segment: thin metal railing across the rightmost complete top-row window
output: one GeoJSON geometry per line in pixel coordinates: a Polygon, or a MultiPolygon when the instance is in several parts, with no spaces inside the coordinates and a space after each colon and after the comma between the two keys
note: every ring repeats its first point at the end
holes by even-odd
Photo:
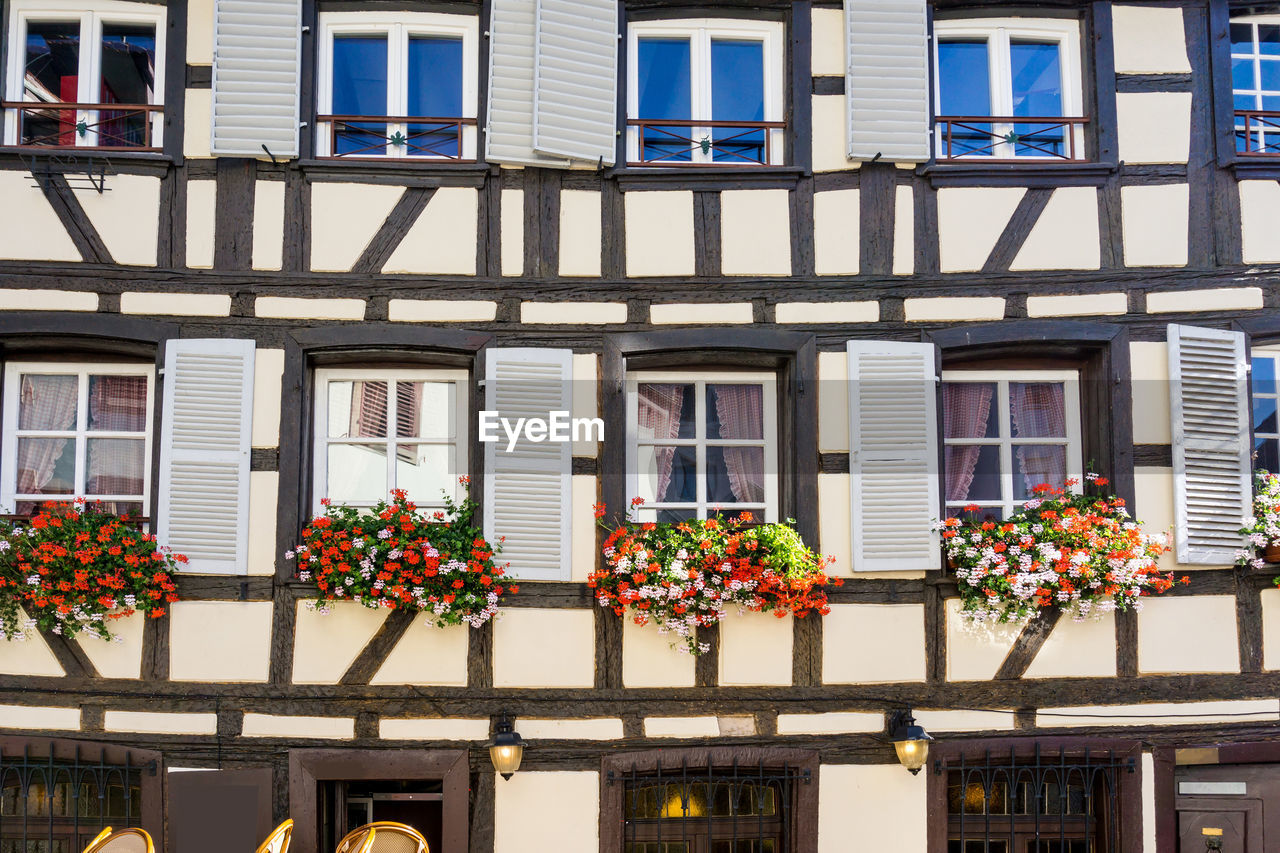
{"type": "Polygon", "coordinates": [[[940,160],[1083,160],[1085,117],[940,115],[940,160]]]}

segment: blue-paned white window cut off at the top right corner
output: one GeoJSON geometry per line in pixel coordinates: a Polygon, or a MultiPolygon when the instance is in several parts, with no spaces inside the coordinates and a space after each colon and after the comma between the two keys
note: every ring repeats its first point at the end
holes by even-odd
{"type": "Polygon", "coordinates": [[[1231,18],[1235,150],[1280,154],[1280,15],[1231,18]]]}

